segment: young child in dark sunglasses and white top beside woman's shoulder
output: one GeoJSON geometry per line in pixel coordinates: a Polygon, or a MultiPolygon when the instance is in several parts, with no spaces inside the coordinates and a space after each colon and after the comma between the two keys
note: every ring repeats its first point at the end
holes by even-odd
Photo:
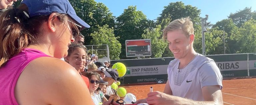
{"type": "Polygon", "coordinates": [[[95,105],[99,105],[101,102],[100,97],[94,93],[94,91],[99,87],[100,75],[97,72],[86,72],[85,76],[89,78],[90,86],[89,92],[95,105]]]}

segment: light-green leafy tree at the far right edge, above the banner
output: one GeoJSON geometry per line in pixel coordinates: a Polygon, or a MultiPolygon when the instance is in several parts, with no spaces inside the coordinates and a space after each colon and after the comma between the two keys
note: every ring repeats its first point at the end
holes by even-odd
{"type": "Polygon", "coordinates": [[[236,40],[239,45],[237,53],[256,52],[256,20],[250,19],[245,22],[232,39],[236,40]]]}

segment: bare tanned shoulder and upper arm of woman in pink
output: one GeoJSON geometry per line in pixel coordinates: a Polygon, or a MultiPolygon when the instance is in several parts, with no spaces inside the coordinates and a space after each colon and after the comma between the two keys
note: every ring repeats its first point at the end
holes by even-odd
{"type": "Polygon", "coordinates": [[[61,59],[40,57],[30,62],[23,70],[15,90],[18,92],[17,97],[21,100],[38,101],[43,99],[43,101],[53,104],[71,104],[74,101],[82,102],[77,100],[74,95],[86,97],[89,94],[88,90],[83,91],[84,87],[86,85],[74,67],[61,59]],[[31,97],[22,98],[25,94],[30,94],[31,97]],[[41,97],[34,97],[38,94],[41,97]],[[68,99],[65,102],[58,101],[60,100],[58,97],[68,99]]]}

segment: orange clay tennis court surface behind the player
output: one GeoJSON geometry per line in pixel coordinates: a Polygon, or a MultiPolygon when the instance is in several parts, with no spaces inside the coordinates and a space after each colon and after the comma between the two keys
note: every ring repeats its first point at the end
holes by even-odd
{"type": "MultiPolygon", "coordinates": [[[[223,104],[224,105],[256,105],[256,78],[223,80],[223,104]]],[[[163,92],[165,84],[147,84],[122,86],[128,93],[132,93],[137,99],[147,97],[150,87],[154,91],[163,92]]]]}

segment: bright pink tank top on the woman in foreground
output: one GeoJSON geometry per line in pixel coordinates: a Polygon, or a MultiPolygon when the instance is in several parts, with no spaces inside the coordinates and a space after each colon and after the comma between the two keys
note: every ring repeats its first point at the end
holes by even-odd
{"type": "Polygon", "coordinates": [[[14,88],[23,69],[34,59],[39,57],[51,57],[45,53],[26,48],[18,55],[10,58],[0,68],[0,105],[18,105],[14,88]]]}

